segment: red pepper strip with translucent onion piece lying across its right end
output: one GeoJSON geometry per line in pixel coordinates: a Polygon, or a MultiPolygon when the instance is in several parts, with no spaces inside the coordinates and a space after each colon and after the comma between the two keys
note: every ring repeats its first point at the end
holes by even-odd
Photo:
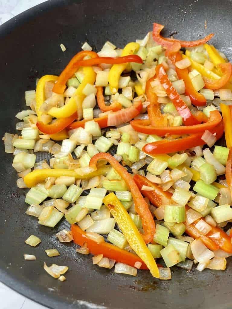
{"type": "MultiPolygon", "coordinates": [[[[222,137],[224,132],[223,122],[221,121],[216,127],[209,130],[211,133],[216,133],[217,140],[222,137]]],[[[186,148],[192,148],[200,145],[204,145],[205,142],[201,139],[203,133],[191,134],[188,137],[177,140],[162,140],[144,145],[143,151],[148,155],[168,154],[170,152],[176,152],[186,150],[186,148]]]]}

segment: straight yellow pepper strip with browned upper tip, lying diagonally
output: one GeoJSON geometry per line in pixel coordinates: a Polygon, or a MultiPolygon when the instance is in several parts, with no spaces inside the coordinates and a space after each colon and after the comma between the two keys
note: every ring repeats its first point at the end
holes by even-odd
{"type": "Polygon", "coordinates": [[[159,278],[156,262],[125,207],[114,193],[108,194],[103,202],[109,208],[131,248],[144,261],[153,277],[159,278]]]}

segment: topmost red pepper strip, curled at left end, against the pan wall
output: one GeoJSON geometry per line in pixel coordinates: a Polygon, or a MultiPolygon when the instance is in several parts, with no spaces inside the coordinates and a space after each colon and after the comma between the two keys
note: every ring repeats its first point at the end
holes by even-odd
{"type": "Polygon", "coordinates": [[[161,30],[164,28],[163,25],[160,25],[158,23],[153,23],[153,40],[159,44],[161,44],[164,47],[170,47],[171,45],[168,45],[170,43],[178,43],[181,47],[194,47],[201,44],[204,44],[208,42],[212,37],[214,36],[213,33],[210,33],[208,36],[204,37],[203,39],[196,40],[196,41],[181,41],[176,40],[172,38],[164,38],[160,35],[161,30]]]}

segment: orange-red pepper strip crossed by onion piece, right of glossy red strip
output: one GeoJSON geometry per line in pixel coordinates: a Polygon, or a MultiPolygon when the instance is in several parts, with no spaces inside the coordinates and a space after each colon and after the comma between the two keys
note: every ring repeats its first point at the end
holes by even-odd
{"type": "MultiPolygon", "coordinates": [[[[175,62],[182,60],[182,56],[180,53],[175,53],[173,55],[169,56],[170,60],[175,64],[175,62]]],[[[178,67],[175,67],[176,73],[178,75],[179,79],[183,79],[185,83],[185,93],[186,95],[189,95],[191,102],[195,106],[204,106],[206,104],[206,99],[204,95],[200,94],[195,90],[195,88],[192,85],[191,79],[188,75],[188,69],[179,69],[178,67]]]]}

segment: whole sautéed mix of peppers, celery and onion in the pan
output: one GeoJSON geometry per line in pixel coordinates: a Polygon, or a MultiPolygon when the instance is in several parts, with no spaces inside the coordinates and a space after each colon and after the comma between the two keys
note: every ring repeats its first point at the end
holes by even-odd
{"type": "MultiPolygon", "coordinates": [[[[174,265],[225,270],[232,255],[232,66],[213,34],[182,41],[163,28],[123,49],[84,43],[60,76],[25,92],[21,135],[3,140],[27,215],[49,228],[67,220],[58,240],[99,267],[165,280],[174,265]]],[[[44,269],[64,281],[68,266],[44,269]]]]}

